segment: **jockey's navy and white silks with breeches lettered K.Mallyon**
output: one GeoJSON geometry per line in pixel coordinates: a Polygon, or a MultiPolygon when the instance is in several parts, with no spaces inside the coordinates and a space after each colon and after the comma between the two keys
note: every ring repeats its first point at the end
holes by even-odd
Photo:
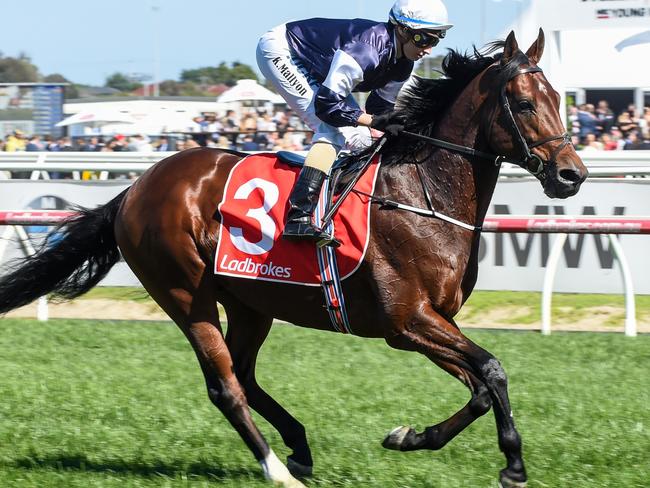
{"type": "Polygon", "coordinates": [[[262,36],[257,64],[288,105],[314,131],[313,141],[356,150],[371,143],[358,126],[364,112],[353,92],[370,92],[366,112],[393,109],[413,61],[397,59],[395,27],[364,19],[308,19],[262,36]]]}

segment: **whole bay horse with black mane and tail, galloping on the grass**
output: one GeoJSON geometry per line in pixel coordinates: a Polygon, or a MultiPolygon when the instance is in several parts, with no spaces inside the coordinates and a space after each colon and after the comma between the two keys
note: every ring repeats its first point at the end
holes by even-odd
{"type": "MultiPolygon", "coordinates": [[[[499,475],[504,487],[527,481],[507,377],[494,356],[463,335],[453,317],[477,279],[479,226],[499,163],[504,158],[518,161],[550,197],[576,194],[587,177],[565,134],[560,97],[537,67],[543,49],[540,30],[526,53],[514,33],[482,53],[450,51],[444,78],[419,80],[401,96],[407,129],[419,138],[388,140],[381,150],[375,195],[430,205],[477,228],[374,206],[364,260],[343,282],[356,335],[383,338],[393,348],[425,355],[471,395],[449,419],[423,432],[398,427],[383,446],[440,449],[493,408],[507,463],[499,475]],[[436,140],[451,145],[440,147],[436,140]],[[502,157],[487,160],[488,152],[502,157]]],[[[68,299],[85,293],[121,252],[191,343],[210,400],[267,479],[304,486],[297,478],[311,474],[313,466],[305,428],[257,384],[255,363],[274,318],[322,330],[331,330],[330,319],[317,287],[213,274],[217,205],[241,157],[216,149],[186,150],[154,165],[106,205],[80,209],[59,228],[62,239],[43,246],[2,278],[0,313],[47,293],[68,299]],[[225,337],[216,302],[226,312],[225,337]],[[249,408],[279,431],[292,451],[287,465],[273,453],[249,408]]]]}

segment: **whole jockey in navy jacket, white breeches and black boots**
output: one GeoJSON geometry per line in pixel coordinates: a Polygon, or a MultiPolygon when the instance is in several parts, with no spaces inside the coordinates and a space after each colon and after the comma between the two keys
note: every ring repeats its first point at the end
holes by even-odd
{"type": "Polygon", "coordinates": [[[313,145],[289,197],[282,234],[333,242],[312,213],[336,156],[372,143],[370,128],[396,135],[395,99],[414,62],[431,53],[452,24],[442,0],[397,0],[388,22],[307,19],[262,36],[257,64],[289,107],[314,131],[313,145]],[[366,110],[353,92],[370,92],[366,110]]]}

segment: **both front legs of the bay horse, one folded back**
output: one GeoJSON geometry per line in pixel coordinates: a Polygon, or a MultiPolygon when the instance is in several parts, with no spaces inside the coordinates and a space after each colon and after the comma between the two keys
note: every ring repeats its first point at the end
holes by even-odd
{"type": "Polygon", "coordinates": [[[499,362],[430,305],[420,307],[411,320],[386,338],[392,347],[418,351],[460,379],[471,391],[470,401],[449,419],[422,433],[399,427],[384,440],[384,447],[401,451],[440,449],[481,415],[494,407],[499,447],[507,466],[500,473],[505,488],[526,485],[521,437],[515,428],[508,399],[507,378],[499,362]]]}

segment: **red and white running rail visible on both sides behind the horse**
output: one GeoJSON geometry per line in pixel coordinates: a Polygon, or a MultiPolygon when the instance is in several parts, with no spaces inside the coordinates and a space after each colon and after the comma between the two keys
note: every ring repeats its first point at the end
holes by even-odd
{"type": "MultiPolygon", "coordinates": [[[[0,225],[56,225],[74,215],[69,210],[0,211],[0,225]]],[[[540,234],[650,234],[650,217],[488,216],[484,232],[540,234]]]]}

